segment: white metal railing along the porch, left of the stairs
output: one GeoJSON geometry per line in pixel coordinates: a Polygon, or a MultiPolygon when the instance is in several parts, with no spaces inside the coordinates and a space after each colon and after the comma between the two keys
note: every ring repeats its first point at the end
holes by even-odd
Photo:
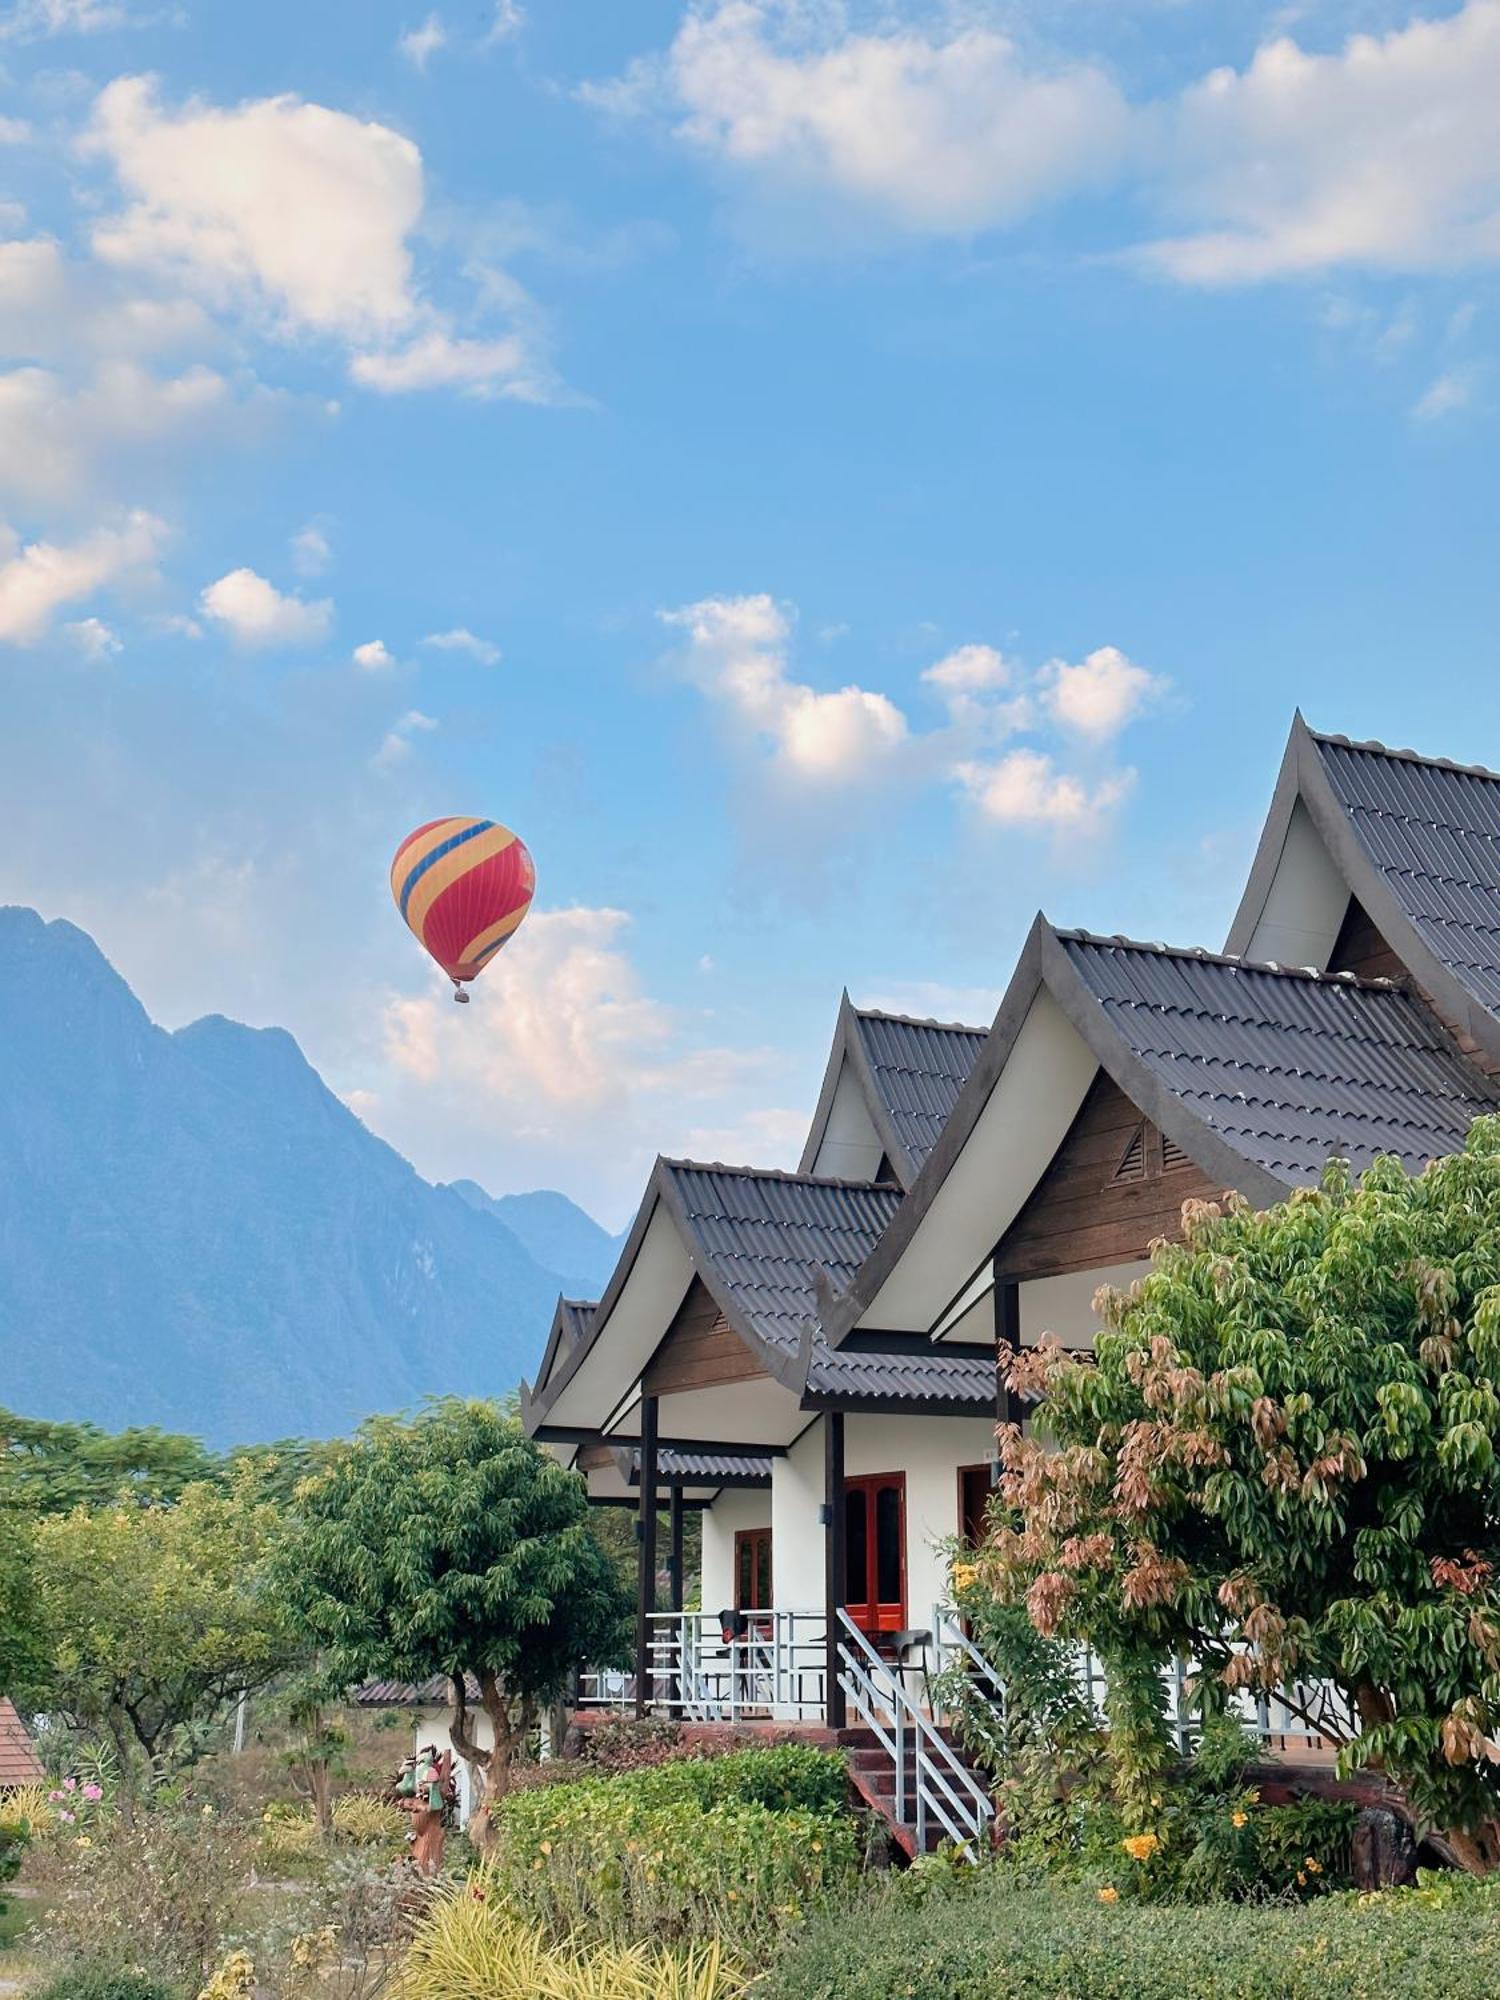
{"type": "MultiPolygon", "coordinates": [[[[828,1620],[818,1612],[652,1612],[648,1618],[652,1714],[684,1722],[820,1722],[826,1714],[828,1620]]],[[[634,1710],[636,1676],[586,1672],[580,1708],[634,1710]]]]}

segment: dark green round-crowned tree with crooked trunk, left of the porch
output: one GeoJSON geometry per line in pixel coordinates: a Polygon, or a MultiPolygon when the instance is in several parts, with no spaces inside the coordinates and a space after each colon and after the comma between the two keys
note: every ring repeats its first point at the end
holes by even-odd
{"type": "Polygon", "coordinates": [[[480,1790],[506,1790],[516,1744],[580,1660],[620,1656],[630,1602],[584,1486],[496,1404],[372,1418],[300,1488],[298,1516],[278,1576],[330,1684],[442,1676],[480,1790]]]}

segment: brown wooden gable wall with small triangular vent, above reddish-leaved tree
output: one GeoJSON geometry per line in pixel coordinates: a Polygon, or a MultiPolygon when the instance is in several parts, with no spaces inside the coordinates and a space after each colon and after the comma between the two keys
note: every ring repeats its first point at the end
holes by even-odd
{"type": "Polygon", "coordinates": [[[1176,1236],[1186,1200],[1216,1200],[1222,1186],[1164,1138],[1104,1070],[1078,1116],[1000,1238],[996,1276],[1058,1278],[1130,1264],[1156,1236],[1176,1236]]]}

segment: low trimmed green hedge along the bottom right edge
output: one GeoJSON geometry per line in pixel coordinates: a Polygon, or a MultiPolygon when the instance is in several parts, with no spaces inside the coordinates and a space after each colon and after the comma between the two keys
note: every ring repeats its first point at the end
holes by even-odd
{"type": "Polygon", "coordinates": [[[756,2000],[1492,2000],[1500,1908],[1104,1906],[1080,1892],[884,1894],[814,1918],[756,2000]]]}

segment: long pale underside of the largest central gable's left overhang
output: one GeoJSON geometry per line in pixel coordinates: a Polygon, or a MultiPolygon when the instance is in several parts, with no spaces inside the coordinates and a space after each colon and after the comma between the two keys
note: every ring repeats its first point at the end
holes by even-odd
{"type": "Polygon", "coordinates": [[[1038,986],[1004,1070],[858,1324],[926,1334],[974,1282],[1078,1116],[1098,1058],[1038,986]]]}

